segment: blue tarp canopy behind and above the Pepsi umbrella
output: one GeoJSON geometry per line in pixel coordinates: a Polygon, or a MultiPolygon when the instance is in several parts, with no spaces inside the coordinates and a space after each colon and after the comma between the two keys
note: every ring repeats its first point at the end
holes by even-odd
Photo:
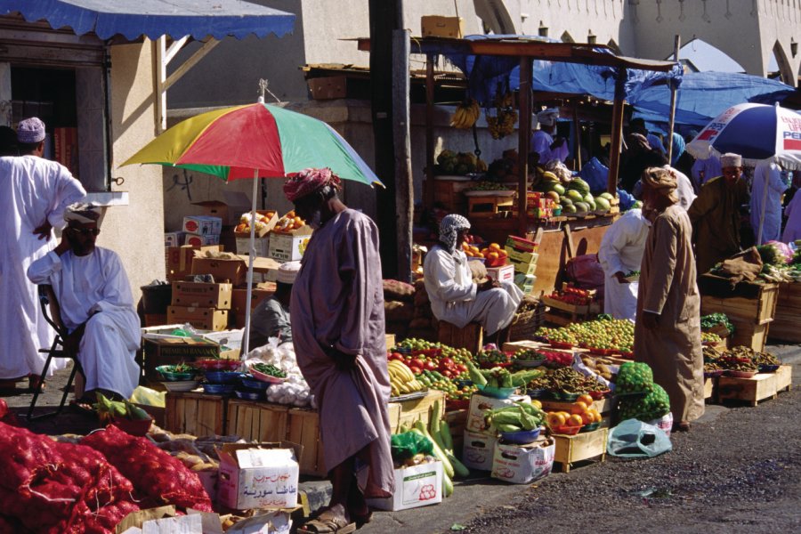
{"type": "MultiPolygon", "coordinates": [[[[693,72],[685,74],[676,93],[676,124],[705,126],[726,109],[744,102],[781,102],[795,88],[769,78],[734,72],[693,72]]],[[[653,86],[632,95],[628,103],[636,117],[651,123],[667,123],[670,90],[653,86]]]]}

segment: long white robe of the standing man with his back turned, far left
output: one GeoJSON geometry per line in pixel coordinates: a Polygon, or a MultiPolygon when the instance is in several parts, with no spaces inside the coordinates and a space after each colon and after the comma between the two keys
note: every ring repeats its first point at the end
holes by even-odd
{"type": "MultiPolygon", "coordinates": [[[[46,355],[39,349],[53,343],[53,328],[44,320],[36,286],[26,271],[34,260],[56,246],[33,231],[45,219],[63,228],[66,206],[85,197],[67,167],[36,156],[0,158],[0,379],[40,375],[46,355]]],[[[66,362],[53,360],[48,371],[66,362]]]]}

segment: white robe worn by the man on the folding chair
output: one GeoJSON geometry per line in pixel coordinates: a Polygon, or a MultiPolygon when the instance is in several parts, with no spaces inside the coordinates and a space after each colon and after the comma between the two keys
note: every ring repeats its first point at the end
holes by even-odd
{"type": "Polygon", "coordinates": [[[134,361],[141,341],[139,316],[117,253],[95,247],[85,256],[49,252],[28,268],[35,284],[50,284],[70,332],[86,323],[78,345],[85,391],[104,389],[129,399],[139,384],[134,361]]]}

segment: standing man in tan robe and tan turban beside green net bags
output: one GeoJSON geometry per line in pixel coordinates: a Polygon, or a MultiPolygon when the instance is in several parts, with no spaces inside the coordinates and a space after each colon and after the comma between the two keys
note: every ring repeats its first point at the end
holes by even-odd
{"type": "Polygon", "coordinates": [[[700,295],[687,213],[676,206],[676,178],[664,168],[643,173],[644,211],[651,219],[637,295],[635,359],[665,388],[674,429],[689,430],[704,413],[700,295]]]}

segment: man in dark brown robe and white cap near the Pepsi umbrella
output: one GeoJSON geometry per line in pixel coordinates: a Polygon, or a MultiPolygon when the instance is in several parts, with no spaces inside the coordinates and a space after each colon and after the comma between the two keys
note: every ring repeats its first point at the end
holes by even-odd
{"type": "Polygon", "coordinates": [[[723,176],[704,183],[687,214],[692,223],[699,274],[741,250],[740,206],[748,204],[748,184],[742,176],[742,158],[724,154],[723,176]]]}

